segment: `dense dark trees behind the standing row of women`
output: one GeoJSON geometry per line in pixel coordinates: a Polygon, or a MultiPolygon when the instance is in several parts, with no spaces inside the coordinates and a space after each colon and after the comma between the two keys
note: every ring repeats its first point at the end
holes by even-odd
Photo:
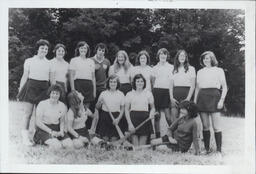
{"type": "MultiPolygon", "coordinates": [[[[152,65],[158,48],[166,47],[171,63],[180,48],[189,53],[190,63],[200,68],[199,56],[213,51],[225,70],[227,114],[244,115],[245,60],[244,11],[206,9],[10,9],[9,10],[9,98],[17,95],[23,63],[34,55],[34,44],[44,38],[52,46],[67,46],[67,61],[80,40],[91,47],[108,45],[107,58],[124,49],[134,63],[136,53],[146,49],[152,65]]],[[[50,50],[47,58],[53,57],[50,50]]]]}

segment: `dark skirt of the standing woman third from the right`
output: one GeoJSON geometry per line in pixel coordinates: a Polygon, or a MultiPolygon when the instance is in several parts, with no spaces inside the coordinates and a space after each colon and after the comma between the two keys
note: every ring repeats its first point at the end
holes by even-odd
{"type": "Polygon", "coordinates": [[[157,110],[169,108],[170,106],[169,89],[153,88],[152,93],[154,96],[155,107],[157,110]]]}

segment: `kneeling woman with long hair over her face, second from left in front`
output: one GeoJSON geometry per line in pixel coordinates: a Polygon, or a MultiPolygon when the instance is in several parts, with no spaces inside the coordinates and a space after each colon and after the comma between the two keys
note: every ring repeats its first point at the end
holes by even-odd
{"type": "Polygon", "coordinates": [[[92,113],[88,108],[85,111],[83,100],[84,97],[80,92],[72,91],[68,94],[67,130],[75,148],[88,145],[90,140],[85,122],[92,113]]]}

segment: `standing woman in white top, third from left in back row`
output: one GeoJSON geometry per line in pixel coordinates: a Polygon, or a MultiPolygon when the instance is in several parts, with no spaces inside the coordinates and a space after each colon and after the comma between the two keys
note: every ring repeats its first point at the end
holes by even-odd
{"type": "Polygon", "coordinates": [[[96,97],[95,63],[88,58],[89,55],[89,45],[85,41],[78,42],[69,66],[71,90],[82,93],[87,108],[96,97]]]}

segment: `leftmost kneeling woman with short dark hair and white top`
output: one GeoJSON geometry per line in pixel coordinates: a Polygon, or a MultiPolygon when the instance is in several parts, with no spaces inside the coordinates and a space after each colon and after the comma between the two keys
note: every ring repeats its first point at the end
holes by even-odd
{"type": "Polygon", "coordinates": [[[53,148],[68,147],[69,139],[64,133],[64,119],[67,108],[59,101],[62,89],[53,85],[48,90],[49,99],[41,101],[36,108],[36,132],[34,142],[53,148]]]}

